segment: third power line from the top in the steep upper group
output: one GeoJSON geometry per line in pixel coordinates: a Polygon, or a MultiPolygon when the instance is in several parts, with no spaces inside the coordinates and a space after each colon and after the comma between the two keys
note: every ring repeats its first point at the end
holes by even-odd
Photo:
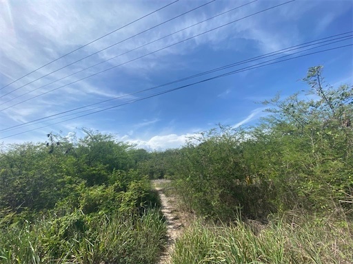
{"type": "MultiPolygon", "coordinates": [[[[92,66],[90,66],[90,67],[86,67],[86,68],[84,68],[84,69],[81,69],[81,70],[79,70],[78,72],[74,72],[73,74],[69,74],[69,75],[64,76],[64,77],[62,77],[62,78],[59,78],[58,80],[54,80],[54,81],[52,81],[51,83],[47,83],[46,85],[42,85],[42,86],[37,87],[36,89],[33,89],[33,90],[31,90],[31,91],[27,91],[26,93],[21,94],[20,96],[14,97],[14,98],[12,98],[12,99],[6,101],[6,102],[2,102],[2,103],[0,104],[0,106],[3,105],[3,104],[7,104],[8,102],[11,102],[12,100],[16,100],[16,99],[18,99],[18,98],[21,98],[22,96],[26,96],[26,94],[30,94],[30,93],[32,93],[33,91],[37,91],[37,90],[39,90],[39,89],[41,89],[41,88],[43,88],[43,87],[46,87],[46,86],[48,86],[48,85],[52,85],[53,83],[57,83],[57,82],[59,82],[59,80],[64,80],[65,78],[68,78],[68,77],[70,77],[70,76],[74,76],[74,75],[76,75],[76,74],[79,74],[80,72],[84,72],[84,71],[87,70],[87,69],[91,69],[92,67],[95,67],[95,66],[97,66],[97,65],[101,65],[102,63],[105,63],[105,62],[107,62],[107,61],[111,61],[111,60],[114,59],[114,58],[117,58],[117,57],[119,57],[119,56],[123,56],[123,55],[125,55],[125,54],[130,53],[130,52],[133,52],[134,50],[139,50],[141,47],[145,47],[145,46],[147,46],[147,45],[150,45],[150,44],[152,44],[152,43],[155,43],[155,42],[157,42],[157,41],[160,41],[161,39],[165,39],[165,38],[167,38],[168,36],[172,36],[172,35],[174,35],[174,34],[177,34],[177,33],[179,33],[179,32],[182,32],[183,30],[187,30],[187,29],[189,29],[189,28],[194,27],[195,25],[199,25],[199,24],[201,24],[201,23],[204,23],[205,21],[209,21],[210,19],[214,19],[214,18],[216,18],[216,17],[219,17],[219,16],[221,16],[221,15],[223,15],[223,14],[226,14],[226,13],[228,13],[228,12],[234,11],[234,10],[236,10],[236,9],[238,9],[238,8],[242,8],[243,6],[249,5],[250,3],[254,3],[254,2],[256,2],[256,1],[258,1],[258,0],[254,0],[254,1],[251,1],[251,2],[249,2],[249,3],[245,3],[245,4],[243,4],[243,5],[239,5],[239,6],[237,6],[236,8],[232,8],[232,9],[227,10],[227,11],[225,11],[225,12],[221,12],[220,14],[217,14],[217,15],[214,16],[214,17],[210,17],[210,18],[208,18],[208,19],[205,19],[205,20],[203,20],[203,21],[200,21],[200,22],[198,22],[198,23],[195,23],[195,24],[193,24],[193,25],[190,25],[190,26],[188,26],[188,27],[186,27],[186,28],[183,28],[183,29],[181,29],[181,30],[177,30],[176,32],[173,32],[173,33],[171,33],[171,34],[168,34],[168,35],[166,35],[166,36],[163,36],[163,37],[161,37],[161,38],[159,38],[159,39],[155,39],[154,41],[151,41],[151,42],[149,42],[149,43],[145,43],[144,45],[141,45],[141,46],[139,46],[139,47],[135,47],[134,49],[129,50],[128,52],[123,52],[123,53],[121,53],[121,54],[119,54],[119,55],[117,55],[117,56],[113,56],[113,57],[111,57],[111,58],[108,58],[107,60],[101,61],[100,63],[96,63],[96,64],[94,64],[94,65],[92,65],[92,66]]],[[[120,65],[118,65],[118,66],[120,66],[120,65]]],[[[62,69],[62,68],[61,68],[61,69],[62,69]]],[[[57,69],[57,70],[54,71],[54,72],[57,72],[57,71],[59,71],[59,70],[60,70],[60,69],[57,69]]],[[[54,72],[51,72],[50,74],[52,74],[52,73],[54,73],[54,72]]],[[[48,75],[49,75],[49,74],[48,74],[48,75]]],[[[43,76],[43,77],[45,77],[45,76],[43,76]]],[[[43,77],[41,77],[41,78],[43,78],[43,77]]],[[[37,80],[39,80],[39,79],[37,79],[37,80]]],[[[31,83],[33,83],[34,81],[36,81],[36,80],[33,80],[31,83]]],[[[28,84],[30,84],[30,83],[28,83],[28,84]]],[[[27,85],[28,85],[28,84],[27,84],[27,85]]],[[[23,85],[23,86],[26,86],[26,85],[23,85]]],[[[17,88],[17,89],[20,89],[20,88],[21,88],[21,87],[19,87],[19,88],[17,88]]],[[[6,95],[7,95],[7,94],[6,94],[6,95]]],[[[3,96],[6,96],[6,95],[3,95],[3,96]]],[[[1,96],[1,97],[3,97],[3,96],[1,96]]],[[[1,97],[0,97],[0,98],[1,98],[1,97]]]]}

